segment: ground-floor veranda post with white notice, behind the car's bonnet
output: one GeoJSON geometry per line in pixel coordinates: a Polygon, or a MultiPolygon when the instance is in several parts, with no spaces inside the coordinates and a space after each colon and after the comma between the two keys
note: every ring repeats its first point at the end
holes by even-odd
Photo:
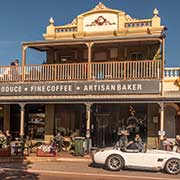
{"type": "Polygon", "coordinates": [[[160,103],[160,132],[159,132],[159,137],[160,137],[160,148],[162,149],[162,141],[164,139],[164,103],[160,103]]]}

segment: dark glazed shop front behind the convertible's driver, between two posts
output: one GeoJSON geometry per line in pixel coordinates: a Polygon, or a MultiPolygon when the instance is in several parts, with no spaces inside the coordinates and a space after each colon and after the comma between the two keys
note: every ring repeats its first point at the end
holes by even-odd
{"type": "Polygon", "coordinates": [[[91,137],[94,147],[112,146],[118,140],[118,131],[126,129],[128,140],[140,134],[147,138],[146,104],[94,104],[92,107],[91,137]]]}

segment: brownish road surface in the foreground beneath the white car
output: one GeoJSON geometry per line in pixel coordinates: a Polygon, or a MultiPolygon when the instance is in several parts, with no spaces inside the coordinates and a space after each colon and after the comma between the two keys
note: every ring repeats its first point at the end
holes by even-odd
{"type": "Polygon", "coordinates": [[[0,179],[10,180],[179,180],[163,172],[121,170],[111,172],[89,162],[0,163],[0,179]]]}

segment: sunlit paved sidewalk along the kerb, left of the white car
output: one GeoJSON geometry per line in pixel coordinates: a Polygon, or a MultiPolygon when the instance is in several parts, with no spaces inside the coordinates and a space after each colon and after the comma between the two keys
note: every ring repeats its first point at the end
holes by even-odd
{"type": "Polygon", "coordinates": [[[41,161],[65,161],[65,162],[91,162],[90,155],[74,156],[68,152],[60,152],[56,157],[37,157],[36,153],[31,153],[30,156],[10,156],[0,157],[0,163],[8,162],[41,162],[41,161]]]}

